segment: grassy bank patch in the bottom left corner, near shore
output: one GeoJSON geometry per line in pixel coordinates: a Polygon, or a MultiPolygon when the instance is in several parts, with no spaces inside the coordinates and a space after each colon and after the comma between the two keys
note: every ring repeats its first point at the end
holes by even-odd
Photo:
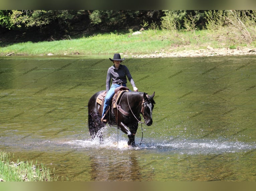
{"type": "Polygon", "coordinates": [[[0,180],[1,181],[53,181],[51,172],[42,164],[33,165],[32,161],[11,160],[10,153],[0,150],[0,180]]]}

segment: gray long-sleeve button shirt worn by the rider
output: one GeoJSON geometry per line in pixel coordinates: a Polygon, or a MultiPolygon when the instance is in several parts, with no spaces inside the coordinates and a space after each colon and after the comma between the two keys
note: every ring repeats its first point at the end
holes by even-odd
{"type": "Polygon", "coordinates": [[[115,65],[111,66],[108,69],[108,73],[107,73],[106,90],[109,91],[110,89],[111,79],[112,79],[112,83],[117,82],[117,83],[126,84],[127,83],[126,76],[129,82],[131,83],[132,87],[135,87],[135,83],[132,79],[132,76],[125,65],[120,64],[118,70],[116,70],[115,65]]]}

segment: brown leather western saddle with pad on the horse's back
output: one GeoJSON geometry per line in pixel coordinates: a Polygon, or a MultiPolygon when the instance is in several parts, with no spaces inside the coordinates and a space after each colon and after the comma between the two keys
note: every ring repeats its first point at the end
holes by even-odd
{"type": "MultiPolygon", "coordinates": [[[[124,93],[124,92],[129,92],[129,88],[127,87],[124,87],[124,86],[120,86],[118,88],[115,89],[115,94],[114,96],[112,97],[112,112],[113,112],[113,109],[116,108],[117,110],[119,110],[122,114],[126,115],[126,116],[129,116],[130,114],[126,111],[124,111],[117,103],[119,101],[119,99],[121,98],[121,95],[124,93]]],[[[103,111],[103,107],[104,107],[104,99],[107,95],[107,91],[104,91],[102,92],[100,95],[98,95],[97,99],[96,99],[96,102],[101,105],[101,110],[103,111]]],[[[109,105],[109,107],[110,107],[109,105]]],[[[107,108],[107,112],[106,112],[106,115],[109,114],[109,108],[107,108]]]]}

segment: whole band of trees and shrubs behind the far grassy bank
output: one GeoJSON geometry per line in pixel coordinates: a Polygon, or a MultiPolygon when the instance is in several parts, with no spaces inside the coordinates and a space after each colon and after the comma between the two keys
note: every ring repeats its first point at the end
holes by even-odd
{"type": "MultiPolygon", "coordinates": [[[[0,25],[2,29],[7,28],[21,32],[17,34],[14,39],[12,38],[9,40],[9,42],[6,42],[6,38],[1,38],[0,36],[1,46],[6,46],[13,42],[38,42],[42,40],[57,41],[60,39],[71,40],[70,36],[72,35],[72,38],[80,38],[81,36],[95,35],[99,32],[112,32],[112,34],[120,35],[127,31],[132,33],[133,31],[139,30],[141,27],[143,27],[145,31],[159,30],[160,27],[169,32],[168,34],[170,36],[168,36],[168,38],[174,37],[176,40],[181,39],[181,44],[185,45],[190,44],[194,39],[199,45],[202,35],[196,35],[196,31],[207,29],[210,39],[221,42],[221,44],[225,44],[229,47],[239,44],[251,44],[255,41],[256,11],[0,10],[0,25]],[[39,31],[38,29],[40,29],[40,35],[34,33],[34,38],[38,38],[39,40],[30,40],[27,38],[28,40],[20,41],[20,39],[25,37],[29,32],[29,29],[35,31],[39,31]],[[49,29],[51,29],[50,34],[48,32],[50,31],[49,29]],[[191,36],[188,37],[182,32],[191,32],[191,36]],[[41,34],[44,34],[45,36],[41,34]],[[74,34],[80,36],[74,36],[74,34]],[[39,38],[41,36],[43,37],[39,38]]],[[[3,30],[3,32],[6,31],[7,30],[3,30]]],[[[22,52],[21,54],[24,53],[22,52]]],[[[30,53],[28,52],[28,54],[30,53]]]]}

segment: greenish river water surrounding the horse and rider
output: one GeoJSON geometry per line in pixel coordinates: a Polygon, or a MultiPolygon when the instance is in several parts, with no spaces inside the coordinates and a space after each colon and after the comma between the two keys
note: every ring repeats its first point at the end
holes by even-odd
{"type": "Polygon", "coordinates": [[[104,144],[89,135],[87,103],[105,89],[109,57],[0,57],[0,149],[59,180],[255,181],[256,56],[127,58],[156,101],[134,148],[115,127],[104,144]]]}

